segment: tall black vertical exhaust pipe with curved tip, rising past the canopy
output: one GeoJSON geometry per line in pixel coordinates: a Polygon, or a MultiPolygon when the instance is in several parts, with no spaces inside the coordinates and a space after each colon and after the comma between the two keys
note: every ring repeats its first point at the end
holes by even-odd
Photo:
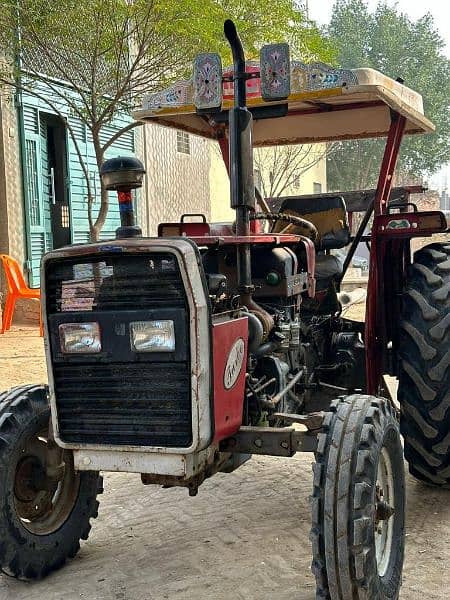
{"type": "MultiPolygon", "coordinates": [[[[224,24],[225,37],[233,54],[234,107],[229,111],[230,135],[230,196],[236,210],[236,235],[250,235],[250,211],[255,210],[253,181],[253,117],[246,107],[245,57],[241,40],[233,21],[224,24]]],[[[253,291],[250,244],[238,246],[239,291],[243,295],[253,291]]]]}

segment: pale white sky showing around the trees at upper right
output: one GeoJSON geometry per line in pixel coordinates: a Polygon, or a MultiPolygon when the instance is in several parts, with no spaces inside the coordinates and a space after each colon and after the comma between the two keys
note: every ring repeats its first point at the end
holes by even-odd
{"type": "MultiPolygon", "coordinates": [[[[334,0],[303,0],[308,6],[309,18],[318,25],[328,24],[334,0]]],[[[389,6],[397,5],[401,12],[410,19],[417,20],[427,12],[434,17],[436,28],[446,43],[445,52],[450,58],[450,0],[385,0],[389,6]]],[[[370,10],[374,10],[378,0],[366,0],[370,10]]],[[[430,180],[430,187],[434,189],[450,188],[450,163],[444,166],[430,180]]]]}

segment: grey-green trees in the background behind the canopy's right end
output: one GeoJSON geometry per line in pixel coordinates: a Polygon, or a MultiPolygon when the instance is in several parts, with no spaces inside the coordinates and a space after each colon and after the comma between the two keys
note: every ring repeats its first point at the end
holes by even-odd
{"type": "MultiPolygon", "coordinates": [[[[423,96],[425,115],[436,133],[407,136],[399,176],[417,180],[448,161],[450,149],[450,61],[433,18],[412,21],[397,7],[380,2],[374,13],[362,0],[337,0],[328,27],[340,65],[372,67],[423,96]]],[[[382,141],[336,145],[328,161],[331,189],[372,187],[382,156],[382,141]]]]}

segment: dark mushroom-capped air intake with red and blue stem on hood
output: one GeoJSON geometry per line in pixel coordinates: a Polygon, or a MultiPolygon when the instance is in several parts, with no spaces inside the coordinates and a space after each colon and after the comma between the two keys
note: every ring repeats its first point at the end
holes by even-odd
{"type": "Polygon", "coordinates": [[[116,238],[131,238],[142,235],[142,230],[135,223],[133,199],[131,192],[142,187],[145,175],[144,165],[133,156],[118,156],[106,160],[100,170],[105,188],[116,191],[119,201],[120,227],[116,230],[116,238]]]}

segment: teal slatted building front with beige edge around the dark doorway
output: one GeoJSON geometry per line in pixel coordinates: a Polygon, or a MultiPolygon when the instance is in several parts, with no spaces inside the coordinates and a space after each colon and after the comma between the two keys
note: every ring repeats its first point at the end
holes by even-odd
{"type": "MultiPolygon", "coordinates": [[[[43,84],[39,90],[45,96],[43,84]]],[[[70,115],[68,107],[58,106],[66,116],[77,135],[82,154],[92,172],[92,184],[98,194],[100,182],[94,159],[92,140],[86,127],[70,115]]],[[[14,95],[3,90],[0,94],[0,252],[10,254],[22,266],[31,286],[39,285],[39,264],[42,254],[53,246],[49,212],[49,177],[46,174],[46,146],[43,117],[53,111],[42,100],[32,95],[22,94],[19,107],[14,95]],[[19,121],[23,115],[23,138],[19,121]],[[31,146],[30,144],[33,144],[31,146]],[[25,152],[27,167],[22,170],[21,144],[25,152]],[[30,149],[36,154],[33,165],[38,171],[36,182],[29,181],[30,149]],[[25,176],[25,180],[24,180],[25,176]],[[28,176],[28,177],[27,177],[28,176]],[[23,191],[27,197],[24,198],[23,191]],[[34,193],[36,192],[36,194],[34,193]],[[39,196],[40,223],[33,222],[31,203],[39,196]],[[31,199],[33,196],[33,200],[31,199]]],[[[104,135],[108,138],[117,129],[128,124],[131,117],[117,119],[104,135]]],[[[107,157],[134,153],[134,132],[127,132],[110,147],[107,157]]],[[[70,207],[70,241],[82,243],[89,241],[87,215],[87,190],[84,175],[71,137],[67,133],[68,197],[70,207]]],[[[33,156],[34,161],[34,156],[33,156]]],[[[48,170],[48,169],[47,169],[48,170]]],[[[100,203],[94,205],[94,216],[100,203]]],[[[35,214],[34,214],[35,216],[35,214]]],[[[111,194],[108,217],[100,235],[101,239],[111,239],[120,223],[116,195],[111,194]]],[[[0,270],[1,271],[1,270],[0,270]]],[[[0,273],[0,279],[2,274],[0,273]]]]}

